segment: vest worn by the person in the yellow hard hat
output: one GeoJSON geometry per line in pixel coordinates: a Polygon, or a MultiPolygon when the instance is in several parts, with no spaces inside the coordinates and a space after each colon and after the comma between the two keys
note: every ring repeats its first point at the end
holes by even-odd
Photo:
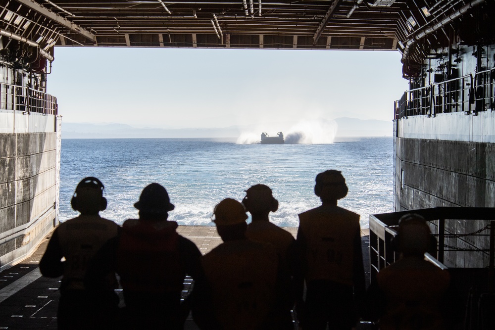
{"type": "Polygon", "coordinates": [[[224,329],[257,329],[275,302],[278,257],[268,244],[234,240],[201,257],[224,329]]]}

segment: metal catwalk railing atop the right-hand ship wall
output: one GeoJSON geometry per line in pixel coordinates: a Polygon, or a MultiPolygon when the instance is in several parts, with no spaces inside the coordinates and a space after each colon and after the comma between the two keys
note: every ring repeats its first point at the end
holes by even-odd
{"type": "Polygon", "coordinates": [[[495,68],[404,92],[395,102],[395,119],[494,109],[495,68]]]}

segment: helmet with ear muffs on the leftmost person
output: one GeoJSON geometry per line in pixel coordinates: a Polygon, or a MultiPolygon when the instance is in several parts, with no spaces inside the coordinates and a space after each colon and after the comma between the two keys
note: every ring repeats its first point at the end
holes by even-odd
{"type": "Polygon", "coordinates": [[[81,213],[98,213],[106,209],[106,198],[103,197],[105,187],[97,178],[87,177],[81,180],[70,200],[75,211],[81,213]]]}

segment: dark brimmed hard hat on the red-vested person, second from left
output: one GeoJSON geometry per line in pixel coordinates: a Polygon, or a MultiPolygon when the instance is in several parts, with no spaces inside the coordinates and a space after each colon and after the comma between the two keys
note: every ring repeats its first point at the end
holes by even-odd
{"type": "Polygon", "coordinates": [[[175,206],[170,203],[168,192],[160,184],[152,183],[143,189],[139,201],[134,207],[146,213],[167,213],[172,211],[175,206]]]}

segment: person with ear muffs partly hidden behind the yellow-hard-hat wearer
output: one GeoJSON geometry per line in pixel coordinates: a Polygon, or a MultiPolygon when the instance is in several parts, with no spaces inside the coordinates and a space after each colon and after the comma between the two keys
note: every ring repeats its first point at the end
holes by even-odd
{"type": "MultiPolygon", "coordinates": [[[[272,189],[265,185],[254,185],[246,190],[246,197],[243,199],[246,210],[251,213],[252,221],[247,225],[247,238],[259,242],[272,244],[279,254],[281,271],[285,273],[287,287],[292,288],[292,262],[289,254],[294,249],[295,239],[288,231],[274,225],[269,220],[270,212],[278,210],[278,200],[273,197],[272,189]]],[[[292,255],[291,255],[292,258],[292,255]]],[[[274,323],[279,329],[294,329],[291,310],[294,307],[294,294],[292,290],[286,290],[286,296],[281,297],[283,301],[278,302],[278,310],[273,316],[274,323]]]]}

